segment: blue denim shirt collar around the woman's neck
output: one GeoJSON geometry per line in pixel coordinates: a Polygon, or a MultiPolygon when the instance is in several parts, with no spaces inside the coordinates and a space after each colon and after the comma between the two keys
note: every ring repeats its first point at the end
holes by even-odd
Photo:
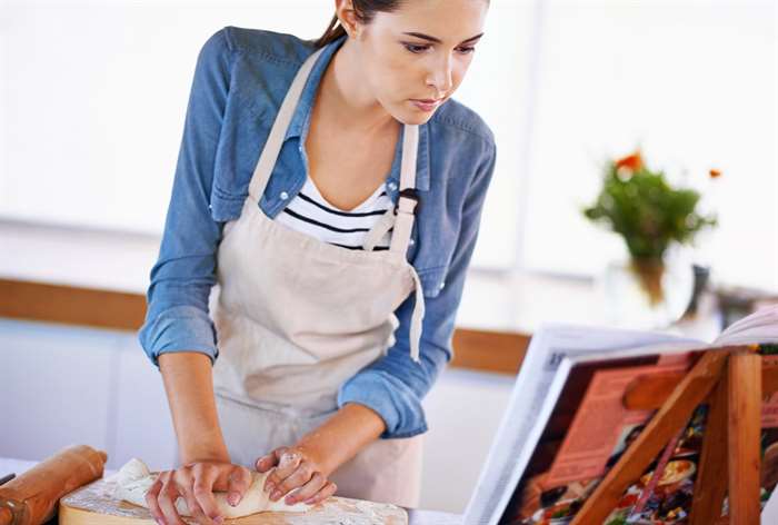
{"type": "MultiPolygon", "coordinates": [[[[292,116],[289,127],[287,128],[287,133],[283,138],[286,141],[289,138],[302,138],[308,133],[308,127],[310,126],[310,115],[313,108],[313,100],[316,98],[316,92],[323,77],[325,70],[329,65],[335,52],[342,46],[348,36],[342,36],[337,40],[325,46],[325,50],[319,55],[311,68],[310,75],[306,80],[306,85],[300,93],[300,100],[295,108],[295,115],[292,116]]],[[[402,140],[402,135],[400,135],[399,140],[402,140]]],[[[388,181],[393,181],[395,186],[400,184],[400,172],[399,169],[392,170],[389,176],[388,181]]],[[[416,161],[416,188],[419,190],[429,190],[429,132],[427,129],[427,123],[419,126],[419,149],[417,151],[416,161]]],[[[396,200],[396,194],[399,189],[390,190],[390,197],[396,200]]]]}

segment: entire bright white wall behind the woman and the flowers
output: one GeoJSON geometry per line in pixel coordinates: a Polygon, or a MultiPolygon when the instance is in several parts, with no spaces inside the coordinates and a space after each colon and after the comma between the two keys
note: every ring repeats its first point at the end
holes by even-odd
{"type": "MultiPolygon", "coordinates": [[[[0,2],[0,217],[159,234],[197,51],[233,24],[313,38],[332,0],[0,2]],[[143,206],[138,206],[143,202],[143,206]]],[[[778,290],[772,0],[492,0],[457,99],[498,140],[473,265],[591,276],[608,157],[724,171],[699,238],[714,277],[778,290]],[[759,257],[742,257],[756,254],[759,257]]]]}

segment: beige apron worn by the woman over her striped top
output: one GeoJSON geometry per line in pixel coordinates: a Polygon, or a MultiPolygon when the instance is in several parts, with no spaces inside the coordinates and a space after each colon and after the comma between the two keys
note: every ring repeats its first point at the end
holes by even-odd
{"type": "MultiPolygon", "coordinates": [[[[225,225],[209,304],[219,357],[219,420],[233,463],[255,467],[337,412],[338,388],[395,344],[393,311],[412,291],[411,358],[418,361],[423,297],[406,259],[416,200],[399,197],[362,250],[323,242],[259,207],[306,79],[302,65],[260,155],[240,217],[225,225]],[[372,251],[393,227],[389,250],[372,251]]],[[[416,185],[418,127],[402,132],[400,190],[416,185]]],[[[422,436],[378,439],[330,476],[338,495],[418,506],[422,436]]]]}

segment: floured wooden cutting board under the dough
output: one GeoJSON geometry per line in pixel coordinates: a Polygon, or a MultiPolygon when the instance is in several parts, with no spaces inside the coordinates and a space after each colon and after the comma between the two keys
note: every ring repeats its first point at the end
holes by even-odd
{"type": "MultiPolygon", "coordinates": [[[[84,485],[59,502],[60,525],[156,525],[144,507],[116,499],[116,475],[84,485]]],[[[189,524],[194,518],[183,517],[189,524]]],[[[230,525],[408,525],[408,514],[401,507],[383,503],[330,497],[305,514],[258,513],[237,519],[230,525]]]]}

